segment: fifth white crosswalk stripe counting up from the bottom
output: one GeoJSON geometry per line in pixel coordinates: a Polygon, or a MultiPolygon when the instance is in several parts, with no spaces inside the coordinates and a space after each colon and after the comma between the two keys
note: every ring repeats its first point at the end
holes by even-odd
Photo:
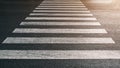
{"type": "Polygon", "coordinates": [[[25,20],[96,20],[93,17],[27,17],[25,20]]]}

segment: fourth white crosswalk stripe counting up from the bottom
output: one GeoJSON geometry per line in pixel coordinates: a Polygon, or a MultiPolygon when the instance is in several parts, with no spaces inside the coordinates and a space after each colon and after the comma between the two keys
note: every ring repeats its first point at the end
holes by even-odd
{"type": "Polygon", "coordinates": [[[89,25],[100,26],[99,22],[22,22],[20,25],[89,25]]]}

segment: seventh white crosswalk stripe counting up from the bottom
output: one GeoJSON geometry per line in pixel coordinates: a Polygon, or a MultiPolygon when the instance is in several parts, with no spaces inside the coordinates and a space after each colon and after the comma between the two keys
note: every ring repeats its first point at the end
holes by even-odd
{"type": "Polygon", "coordinates": [[[72,11],[72,10],[33,10],[33,12],[78,12],[78,13],[90,13],[90,11],[72,11]]]}

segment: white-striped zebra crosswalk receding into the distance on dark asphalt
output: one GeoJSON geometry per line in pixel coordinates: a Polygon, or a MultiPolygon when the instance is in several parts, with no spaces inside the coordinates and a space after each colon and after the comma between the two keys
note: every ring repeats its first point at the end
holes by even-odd
{"type": "MultiPolygon", "coordinates": [[[[15,36],[7,37],[2,44],[19,44],[18,47],[31,44],[51,44],[51,47],[53,44],[66,47],[115,44],[80,0],[44,0],[12,34],[15,36]],[[74,37],[75,34],[78,36],[74,37]]],[[[0,50],[0,59],[120,59],[120,50],[0,50]]]]}

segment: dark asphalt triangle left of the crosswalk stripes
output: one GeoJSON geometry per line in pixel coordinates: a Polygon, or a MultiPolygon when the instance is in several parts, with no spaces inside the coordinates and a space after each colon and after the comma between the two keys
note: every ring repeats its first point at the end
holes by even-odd
{"type": "Polygon", "coordinates": [[[0,1],[0,42],[11,34],[42,0],[0,1]]]}

